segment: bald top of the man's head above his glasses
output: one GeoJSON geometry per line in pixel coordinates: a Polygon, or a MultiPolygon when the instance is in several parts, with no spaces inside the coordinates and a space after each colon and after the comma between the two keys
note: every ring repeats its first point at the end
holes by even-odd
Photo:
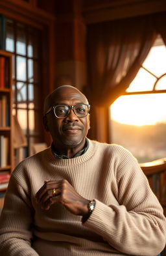
{"type": "Polygon", "coordinates": [[[82,98],[82,100],[84,101],[84,104],[88,104],[88,100],[86,96],[82,92],[80,92],[77,88],[71,85],[62,85],[56,88],[53,92],[51,92],[51,94],[49,94],[45,98],[43,114],[45,115],[45,113],[48,111],[48,109],[51,106],[56,105],[58,103],[58,100],[67,100],[70,94],[73,94],[73,92],[75,94],[78,94],[82,98]]]}

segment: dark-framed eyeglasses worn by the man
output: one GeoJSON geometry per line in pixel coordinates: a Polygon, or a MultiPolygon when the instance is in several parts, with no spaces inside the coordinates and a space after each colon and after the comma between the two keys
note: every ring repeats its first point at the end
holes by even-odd
{"type": "Polygon", "coordinates": [[[73,109],[75,115],[77,117],[86,117],[90,110],[89,104],[77,104],[75,106],[68,106],[68,105],[56,105],[49,108],[49,110],[45,113],[47,115],[53,109],[54,115],[57,118],[65,118],[69,115],[71,109],[73,109]]]}

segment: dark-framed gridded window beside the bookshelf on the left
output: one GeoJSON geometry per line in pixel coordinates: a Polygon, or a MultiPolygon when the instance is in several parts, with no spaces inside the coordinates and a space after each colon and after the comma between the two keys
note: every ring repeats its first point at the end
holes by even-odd
{"type": "Polygon", "coordinates": [[[27,137],[25,156],[30,143],[41,141],[39,124],[42,92],[40,83],[40,31],[18,21],[6,20],[6,51],[13,57],[13,113],[27,137]]]}

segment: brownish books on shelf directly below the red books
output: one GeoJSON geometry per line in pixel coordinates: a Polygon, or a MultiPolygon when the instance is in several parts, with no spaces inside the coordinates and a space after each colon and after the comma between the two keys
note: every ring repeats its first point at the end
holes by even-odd
{"type": "Polygon", "coordinates": [[[9,102],[5,94],[0,95],[0,127],[10,126],[9,102]]]}

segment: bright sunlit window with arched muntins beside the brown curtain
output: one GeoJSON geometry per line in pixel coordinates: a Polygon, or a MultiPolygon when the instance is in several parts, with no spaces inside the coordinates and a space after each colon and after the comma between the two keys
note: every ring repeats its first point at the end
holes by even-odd
{"type": "Polygon", "coordinates": [[[166,156],[166,48],[156,38],[125,95],[110,106],[112,143],[130,150],[138,162],[166,156]]]}

